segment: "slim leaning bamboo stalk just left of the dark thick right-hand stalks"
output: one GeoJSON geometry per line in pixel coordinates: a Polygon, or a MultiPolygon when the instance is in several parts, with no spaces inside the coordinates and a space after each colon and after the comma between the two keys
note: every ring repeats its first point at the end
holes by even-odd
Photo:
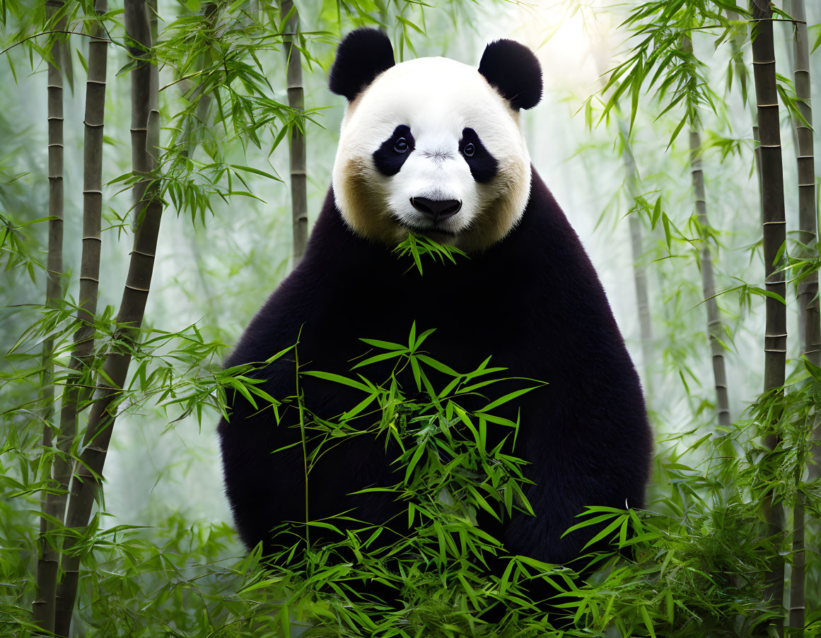
{"type": "Polygon", "coordinates": [[[713,255],[710,252],[707,237],[710,222],[707,217],[707,198],[704,189],[704,170],[701,165],[701,135],[697,129],[690,129],[690,172],[695,192],[695,214],[703,230],[704,241],[699,250],[699,268],[701,270],[701,289],[704,293],[704,305],[707,306],[707,332],[710,340],[710,352],[713,355],[713,381],[716,389],[716,416],[719,426],[730,425],[730,402],[727,396],[727,370],[724,365],[724,346],[721,344],[721,315],[718,312],[718,299],[713,276],[713,255]]]}

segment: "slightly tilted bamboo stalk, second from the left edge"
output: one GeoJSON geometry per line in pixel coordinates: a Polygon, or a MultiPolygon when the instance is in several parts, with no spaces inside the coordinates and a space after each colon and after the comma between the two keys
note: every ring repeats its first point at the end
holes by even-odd
{"type": "MultiPolygon", "coordinates": [[[[103,29],[102,16],[108,11],[107,0],[97,0],[94,11],[98,21],[89,29],[88,80],[85,88],[85,139],[83,143],[83,239],[80,257],[80,303],[77,321],[80,327],[74,334],[69,362],[69,376],[63,391],[60,413],[61,452],[55,464],[54,477],[61,493],[54,494],[60,519],[66,511],[71,480],[71,457],[77,431],[77,413],[90,398],[88,385],[82,383],[83,371],[89,370],[94,358],[94,317],[97,314],[100,263],[100,225],[103,211],[103,121],[105,112],[106,68],[108,66],[108,38],[103,29]]],[[[66,609],[65,599],[56,603],[54,631],[57,636],[68,636],[72,608],[66,609]]],[[[72,605],[73,607],[73,605],[72,605]]]]}

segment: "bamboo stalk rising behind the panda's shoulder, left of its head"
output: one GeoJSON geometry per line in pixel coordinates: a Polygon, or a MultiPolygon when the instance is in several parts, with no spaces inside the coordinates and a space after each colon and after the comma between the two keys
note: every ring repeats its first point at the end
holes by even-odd
{"type": "MultiPolygon", "coordinates": [[[[300,28],[300,16],[292,0],[282,0],[279,7],[287,24],[283,25],[287,62],[288,106],[305,110],[305,92],[302,88],[302,55],[293,41],[300,28]]],[[[294,267],[299,264],[308,244],[308,194],[305,174],[305,133],[296,124],[291,128],[291,219],[294,235],[294,267]]]]}

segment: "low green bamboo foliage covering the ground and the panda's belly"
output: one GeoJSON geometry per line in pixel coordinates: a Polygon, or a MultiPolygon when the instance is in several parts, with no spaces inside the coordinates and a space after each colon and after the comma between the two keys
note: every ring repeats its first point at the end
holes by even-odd
{"type": "MultiPolygon", "coordinates": [[[[268,567],[259,548],[246,558],[227,556],[233,532],[224,524],[192,526],[174,515],[161,522],[158,544],[149,540],[147,529],[105,528],[98,515],[77,545],[85,556],[80,618],[86,635],[153,636],[166,627],[178,636],[288,636],[304,630],[311,636],[549,636],[566,615],[562,624],[571,627],[562,630],[565,636],[596,635],[611,626],[622,636],[744,636],[768,617],[763,574],[770,552],[783,539],[761,535],[755,503],[758,494],[775,488],[788,503],[800,490],[809,509],[821,505],[817,487],[782,480],[804,463],[821,371],[808,367],[792,380],[796,385],[788,395],[801,399],[791,401],[774,425],[771,396],[721,436],[681,445],[692,434],[683,433],[659,441],[659,491],[665,495],[649,511],[591,507],[571,528],[595,526],[591,544],[610,539],[614,545],[612,552],[590,554],[581,563],[599,568],[585,584],[569,567],[507,554],[486,529],[514,511],[530,513],[522,491],[526,467],[511,453],[517,423],[494,410],[532,390],[533,382],[513,380],[519,389],[483,399],[494,394],[495,385],[511,381],[501,376],[505,370],[489,359],[475,371],[452,370],[422,348],[431,332],[417,335],[413,326],[407,344],[364,340],[378,353],[360,362],[355,376],[305,373],[363,395],[356,407],[330,421],[305,412],[309,471],[327,446],[343,437],[390,442],[398,453],[397,483],[380,489],[396,494],[405,508],[400,527],[406,525],[409,533],[395,540],[388,528],[340,513],[308,522],[324,540],[306,547],[305,523],[291,523],[280,530],[277,567],[268,567]],[[369,380],[370,367],[385,361],[393,364],[388,378],[369,380]],[[403,389],[397,376],[408,368],[415,384],[403,389]],[[476,408],[463,407],[471,400],[478,401],[476,408]],[[750,446],[770,426],[791,433],[775,455],[750,446]],[[722,459],[728,445],[749,451],[722,459]],[[690,467],[684,457],[699,448],[715,460],[690,467]],[[549,616],[527,593],[534,579],[557,595],[549,616]],[[374,584],[390,593],[388,600],[374,593],[374,584]],[[494,605],[502,606],[502,620],[488,624],[482,614],[494,605]]],[[[190,334],[175,336],[195,341],[190,334]]],[[[165,335],[147,342],[158,347],[156,340],[162,339],[165,335]]],[[[214,396],[224,400],[225,389],[244,386],[252,401],[281,404],[255,392],[246,373],[243,368],[218,375],[223,390],[214,396]]],[[[147,377],[135,376],[151,385],[147,377]]],[[[0,449],[6,494],[0,532],[7,547],[14,546],[11,539],[25,538],[20,534],[30,520],[15,504],[45,487],[32,482],[37,457],[26,450],[34,440],[21,439],[23,433],[25,428],[11,429],[0,449]],[[17,470],[10,463],[14,459],[17,470]]],[[[16,601],[31,595],[31,581],[26,545],[18,547],[0,560],[0,592],[5,629],[25,636],[25,613],[16,601]]]]}

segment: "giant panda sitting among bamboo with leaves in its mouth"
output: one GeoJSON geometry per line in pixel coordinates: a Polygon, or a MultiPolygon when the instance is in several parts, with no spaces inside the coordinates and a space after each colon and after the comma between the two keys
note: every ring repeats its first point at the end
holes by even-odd
{"type": "MultiPolygon", "coordinates": [[[[548,563],[575,558],[590,532],[562,534],[585,506],[640,508],[651,434],[639,377],[599,278],[566,216],[530,164],[521,109],[542,94],[539,62],[502,39],[478,69],[443,57],[395,64],[376,30],[342,41],[329,75],[347,100],[333,180],[304,258],[264,303],[227,366],[254,373],[276,398],[300,371],[351,375],[361,338],[403,343],[413,322],[457,371],[492,356],[511,375],[546,385],[516,402],[516,455],[528,465],[535,517],[498,529],[507,551],[548,563]],[[466,253],[409,269],[393,248],[413,232],[466,253]]],[[[549,140],[544,140],[549,144],[549,140]]],[[[302,376],[305,407],[332,418],[358,395],[302,376]]],[[[296,410],[279,426],[240,394],[218,426],[227,498],[241,539],[273,550],[271,530],[305,520],[296,410]],[[277,450],[276,453],[273,453],[277,450]]],[[[309,477],[310,519],[341,512],[388,522],[397,482],[383,440],[346,438],[309,477]]],[[[340,523],[342,524],[342,523],[340,523]]]]}

